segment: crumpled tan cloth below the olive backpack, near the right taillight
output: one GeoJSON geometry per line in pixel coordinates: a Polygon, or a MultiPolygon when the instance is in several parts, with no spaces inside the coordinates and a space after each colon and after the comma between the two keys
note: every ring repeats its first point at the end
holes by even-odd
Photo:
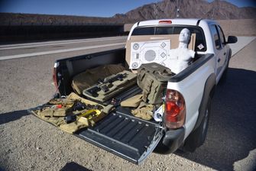
{"type": "Polygon", "coordinates": [[[154,105],[141,102],[138,108],[131,110],[131,114],[137,118],[150,121],[153,118],[153,109],[154,109],[154,105]]]}

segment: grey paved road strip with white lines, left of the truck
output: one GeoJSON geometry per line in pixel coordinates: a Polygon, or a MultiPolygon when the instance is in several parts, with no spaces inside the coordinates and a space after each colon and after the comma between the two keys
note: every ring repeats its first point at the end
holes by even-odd
{"type": "Polygon", "coordinates": [[[79,40],[47,41],[31,44],[0,45],[0,60],[9,60],[28,56],[41,56],[55,53],[74,52],[81,54],[86,50],[99,51],[101,48],[124,47],[127,37],[101,37],[79,40]]]}

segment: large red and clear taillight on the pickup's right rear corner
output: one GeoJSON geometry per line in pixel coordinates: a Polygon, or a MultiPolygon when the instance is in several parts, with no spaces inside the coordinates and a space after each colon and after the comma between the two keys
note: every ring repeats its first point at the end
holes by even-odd
{"type": "Polygon", "coordinates": [[[183,95],[176,90],[167,89],[164,121],[168,128],[176,129],[185,123],[186,105],[183,95]]]}

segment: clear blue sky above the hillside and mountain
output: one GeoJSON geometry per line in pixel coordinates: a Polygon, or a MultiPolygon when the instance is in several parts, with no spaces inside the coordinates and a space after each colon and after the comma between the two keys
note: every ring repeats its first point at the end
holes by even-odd
{"type": "MultiPolygon", "coordinates": [[[[226,1],[238,7],[256,7],[254,0],[226,1]]],[[[160,0],[0,0],[0,12],[112,17],[152,2],[160,0]]]]}

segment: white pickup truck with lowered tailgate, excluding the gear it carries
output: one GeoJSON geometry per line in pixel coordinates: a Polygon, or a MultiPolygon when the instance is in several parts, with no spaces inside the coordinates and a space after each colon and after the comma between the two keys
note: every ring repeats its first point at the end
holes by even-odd
{"type": "MultiPolygon", "coordinates": [[[[143,35],[180,34],[185,27],[196,35],[196,53],[193,63],[167,82],[163,121],[144,121],[131,115],[130,108],[117,106],[95,127],[78,131],[76,136],[133,163],[141,163],[153,150],[173,153],[180,148],[193,152],[201,146],[206,140],[212,96],[232,56],[228,44],[235,43],[237,38],[229,36],[225,40],[222,28],[212,20],[164,19],[134,24],[128,40],[143,35]]],[[[73,92],[73,76],[86,69],[118,63],[128,69],[125,50],[57,60],[53,69],[53,80],[58,89],[55,97],[73,92]]],[[[135,95],[140,91],[135,87],[118,97],[135,95]]]]}

